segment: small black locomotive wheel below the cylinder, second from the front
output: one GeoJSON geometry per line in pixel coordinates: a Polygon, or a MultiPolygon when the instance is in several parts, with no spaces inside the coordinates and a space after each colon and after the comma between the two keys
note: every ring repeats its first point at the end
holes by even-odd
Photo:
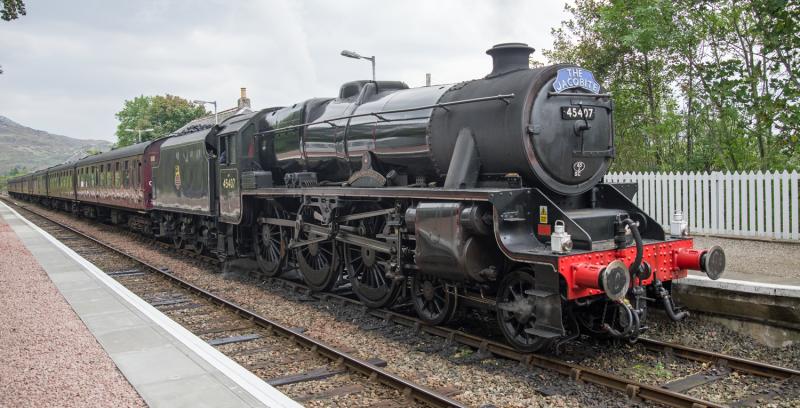
{"type": "Polygon", "coordinates": [[[439,278],[418,274],[411,278],[411,300],[422,321],[431,325],[445,324],[456,312],[456,296],[447,291],[439,278]]]}

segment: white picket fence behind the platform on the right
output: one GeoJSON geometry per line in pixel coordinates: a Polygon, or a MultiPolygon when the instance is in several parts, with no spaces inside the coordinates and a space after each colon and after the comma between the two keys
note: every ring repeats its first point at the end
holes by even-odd
{"type": "Polygon", "coordinates": [[[798,173],[610,173],[635,182],[639,208],[669,228],[681,210],[692,233],[800,240],[798,173]]]}

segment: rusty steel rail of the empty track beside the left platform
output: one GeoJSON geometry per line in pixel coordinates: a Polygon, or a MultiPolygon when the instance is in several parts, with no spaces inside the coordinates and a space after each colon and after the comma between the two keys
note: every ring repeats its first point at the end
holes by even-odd
{"type": "MultiPolygon", "coordinates": [[[[5,200],[5,198],[3,198],[3,200],[5,200]]],[[[421,386],[419,384],[415,384],[413,382],[410,382],[410,381],[408,381],[408,380],[406,380],[406,379],[404,379],[404,378],[402,378],[400,376],[397,376],[397,375],[395,375],[393,373],[390,373],[390,372],[388,372],[386,370],[383,370],[382,368],[377,367],[377,366],[375,366],[375,365],[373,365],[373,364],[371,364],[371,363],[369,363],[367,361],[364,361],[364,360],[359,359],[357,357],[351,356],[350,354],[345,353],[343,351],[337,350],[336,348],[334,348],[332,346],[329,346],[328,344],[326,344],[326,343],[324,343],[324,342],[322,342],[320,340],[314,339],[314,338],[312,338],[310,336],[307,336],[307,335],[305,335],[303,333],[298,333],[298,332],[292,330],[290,327],[284,326],[284,325],[282,325],[282,324],[280,324],[280,323],[278,323],[276,321],[273,321],[273,320],[270,320],[270,319],[268,319],[266,317],[263,317],[263,316],[255,313],[255,312],[253,312],[253,311],[251,311],[249,309],[246,309],[243,306],[240,306],[240,305],[238,305],[236,303],[233,303],[231,301],[225,300],[225,299],[223,299],[223,298],[221,298],[221,297],[219,297],[219,296],[217,296],[217,295],[215,295],[215,294],[213,294],[211,292],[206,291],[205,289],[202,289],[202,288],[200,288],[198,286],[193,285],[192,283],[189,283],[189,282],[179,278],[178,276],[175,276],[175,275],[173,275],[173,274],[171,274],[171,273],[169,273],[169,272],[167,272],[165,270],[162,270],[161,268],[149,263],[148,261],[145,261],[143,259],[138,258],[136,255],[130,254],[127,251],[124,251],[122,249],[118,249],[118,248],[114,247],[111,244],[108,244],[108,243],[105,243],[103,241],[100,241],[100,240],[98,240],[98,239],[96,239],[96,238],[94,238],[94,237],[92,237],[92,236],[80,231],[80,230],[77,230],[77,229],[72,228],[72,227],[70,227],[68,225],[65,225],[65,224],[63,224],[61,222],[58,222],[58,221],[56,221],[56,220],[54,220],[54,219],[52,219],[52,218],[50,218],[50,217],[48,217],[46,215],[40,214],[37,211],[33,211],[33,210],[27,208],[26,206],[20,206],[18,204],[15,204],[15,206],[19,207],[19,208],[22,208],[22,209],[24,209],[24,210],[26,210],[26,211],[28,211],[28,212],[36,215],[36,216],[44,218],[45,220],[47,220],[47,221],[49,221],[51,223],[54,223],[54,224],[60,226],[61,228],[64,228],[64,229],[66,229],[66,230],[68,230],[68,231],[70,231],[70,232],[72,232],[74,234],[77,234],[77,235],[81,236],[82,238],[88,239],[88,240],[90,240],[90,241],[92,241],[92,242],[94,242],[94,243],[96,243],[96,244],[98,244],[98,245],[100,245],[100,246],[102,246],[104,248],[107,248],[108,250],[110,250],[110,251],[112,251],[114,253],[117,253],[117,254],[122,255],[122,256],[124,256],[126,258],[129,258],[132,261],[141,264],[145,268],[150,269],[150,270],[152,270],[154,272],[157,272],[161,276],[167,278],[169,281],[171,281],[171,282],[173,282],[173,283],[175,283],[175,284],[177,284],[177,285],[179,285],[179,286],[181,286],[181,287],[183,287],[183,288],[185,288],[185,289],[187,289],[187,290],[189,290],[189,291],[191,291],[191,292],[193,292],[193,293],[195,293],[195,294],[197,294],[199,296],[205,297],[206,299],[208,299],[208,300],[210,300],[210,301],[212,301],[212,302],[214,302],[214,303],[216,303],[216,304],[218,304],[220,306],[226,307],[226,308],[234,311],[239,316],[242,316],[242,317],[245,317],[245,318],[251,320],[253,323],[255,323],[255,324],[267,329],[269,332],[277,332],[277,333],[279,333],[281,335],[284,335],[286,337],[294,338],[294,340],[298,344],[301,344],[301,345],[305,346],[308,349],[316,351],[317,353],[319,353],[320,355],[328,358],[329,360],[337,362],[339,364],[342,364],[342,365],[346,366],[347,368],[350,368],[350,369],[352,369],[352,370],[354,370],[356,372],[359,372],[359,373],[369,377],[370,379],[378,380],[378,381],[380,381],[381,383],[383,383],[385,385],[388,385],[388,386],[390,386],[392,388],[400,390],[403,393],[403,395],[405,395],[405,396],[407,396],[409,398],[413,398],[414,400],[417,400],[417,401],[419,401],[421,403],[428,404],[428,405],[435,406],[435,407],[459,407],[459,408],[460,407],[466,407],[466,405],[462,404],[461,402],[458,402],[458,401],[456,401],[456,400],[454,400],[452,398],[444,396],[444,395],[442,395],[442,394],[440,394],[440,393],[438,393],[438,392],[436,392],[434,390],[431,390],[431,389],[428,389],[427,387],[423,387],[423,386],[421,386]]]]}

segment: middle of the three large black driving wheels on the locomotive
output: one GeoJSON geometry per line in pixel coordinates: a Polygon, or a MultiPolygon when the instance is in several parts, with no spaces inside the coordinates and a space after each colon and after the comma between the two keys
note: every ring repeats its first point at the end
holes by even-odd
{"type": "MultiPolygon", "coordinates": [[[[301,231],[300,241],[314,241],[320,237],[307,231],[301,231]]],[[[339,280],[339,256],[333,240],[317,241],[295,249],[295,257],[303,280],[316,292],[333,289],[339,280]]]]}

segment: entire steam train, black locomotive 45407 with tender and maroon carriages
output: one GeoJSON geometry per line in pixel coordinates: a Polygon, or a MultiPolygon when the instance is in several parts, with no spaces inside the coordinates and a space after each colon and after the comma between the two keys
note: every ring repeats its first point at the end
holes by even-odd
{"type": "Polygon", "coordinates": [[[219,125],[11,180],[10,193],[171,240],[264,276],[296,267],[316,291],[410,303],[443,324],[493,310],[513,346],[580,333],[635,338],[670,284],[718,278],[693,248],[602,179],[615,156],[611,95],[572,65],[530,69],[532,48],[487,51],[484,78],[409,88],[354,81],[219,125]],[[48,182],[50,180],[50,182],[48,182]]]}

